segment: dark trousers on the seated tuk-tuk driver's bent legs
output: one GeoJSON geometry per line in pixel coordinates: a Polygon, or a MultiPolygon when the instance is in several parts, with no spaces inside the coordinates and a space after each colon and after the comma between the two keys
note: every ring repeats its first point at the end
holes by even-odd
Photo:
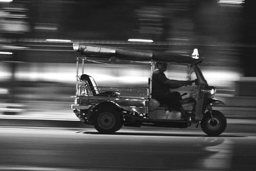
{"type": "Polygon", "coordinates": [[[172,91],[164,94],[154,94],[152,98],[156,99],[160,103],[165,103],[170,109],[179,111],[182,107],[180,104],[181,96],[178,91],[172,91]]]}

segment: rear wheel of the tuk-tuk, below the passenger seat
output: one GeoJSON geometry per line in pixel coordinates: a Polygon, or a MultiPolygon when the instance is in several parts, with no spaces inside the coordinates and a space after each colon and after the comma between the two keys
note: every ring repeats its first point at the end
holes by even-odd
{"type": "Polygon", "coordinates": [[[93,116],[93,126],[99,133],[115,133],[122,128],[121,118],[115,111],[100,110],[93,116]]]}

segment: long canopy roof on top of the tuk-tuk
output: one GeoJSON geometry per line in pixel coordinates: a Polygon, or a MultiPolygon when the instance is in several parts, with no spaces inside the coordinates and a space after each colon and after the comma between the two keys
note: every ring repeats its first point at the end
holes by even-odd
{"type": "Polygon", "coordinates": [[[101,45],[90,45],[74,43],[73,48],[79,54],[92,59],[111,59],[117,58],[120,60],[129,61],[156,61],[166,63],[188,63],[193,64],[201,61],[198,55],[182,55],[172,52],[154,52],[150,50],[134,50],[130,48],[116,48],[101,45]],[[197,59],[195,59],[197,58],[197,59]]]}

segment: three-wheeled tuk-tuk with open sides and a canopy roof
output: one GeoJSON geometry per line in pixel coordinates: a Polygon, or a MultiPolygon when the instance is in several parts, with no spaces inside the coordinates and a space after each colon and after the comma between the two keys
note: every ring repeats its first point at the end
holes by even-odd
{"type": "Polygon", "coordinates": [[[216,89],[207,84],[198,66],[202,59],[196,49],[191,56],[184,56],[80,43],[74,43],[73,48],[77,52],[77,71],[76,96],[71,108],[82,123],[93,124],[100,133],[114,133],[122,126],[188,128],[191,124],[195,124],[196,128],[200,124],[202,130],[210,136],[217,136],[225,131],[225,115],[212,109],[217,103],[223,102],[213,98],[216,89]],[[151,65],[151,76],[143,90],[120,87],[104,89],[97,85],[93,77],[84,73],[86,60],[105,60],[113,63],[116,60],[148,61],[151,65]],[[195,89],[189,97],[180,101],[182,107],[191,114],[189,119],[181,119],[180,112],[172,111],[166,104],[152,99],[151,77],[156,61],[187,64],[191,73],[194,73],[195,89]]]}

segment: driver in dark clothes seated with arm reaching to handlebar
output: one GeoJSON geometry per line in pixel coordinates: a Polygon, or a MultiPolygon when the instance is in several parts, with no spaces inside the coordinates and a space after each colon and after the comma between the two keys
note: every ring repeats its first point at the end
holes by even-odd
{"type": "Polygon", "coordinates": [[[193,81],[170,80],[164,74],[166,69],[167,63],[156,63],[156,70],[152,75],[152,98],[165,103],[169,108],[173,108],[173,110],[179,111],[181,113],[181,119],[187,119],[191,114],[182,108],[180,104],[180,93],[177,91],[170,91],[170,89],[192,85],[193,81]]]}

